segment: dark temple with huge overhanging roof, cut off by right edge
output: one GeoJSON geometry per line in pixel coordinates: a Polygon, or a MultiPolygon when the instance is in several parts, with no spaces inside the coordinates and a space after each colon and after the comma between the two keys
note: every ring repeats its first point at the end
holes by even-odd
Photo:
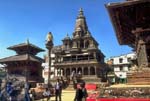
{"type": "Polygon", "coordinates": [[[150,0],[126,0],[106,5],[119,44],[129,45],[137,54],[138,73],[128,82],[150,82],[150,0]]]}

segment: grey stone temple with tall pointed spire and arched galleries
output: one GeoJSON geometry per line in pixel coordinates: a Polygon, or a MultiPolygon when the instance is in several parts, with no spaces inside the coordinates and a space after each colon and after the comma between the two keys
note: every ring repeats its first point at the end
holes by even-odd
{"type": "Polygon", "coordinates": [[[102,77],[104,73],[102,70],[106,67],[105,56],[88,30],[82,8],[76,19],[72,38],[67,34],[62,42],[62,45],[52,49],[56,58],[54,63],[56,74],[68,77],[74,72],[82,74],[82,77],[87,79],[102,77]]]}

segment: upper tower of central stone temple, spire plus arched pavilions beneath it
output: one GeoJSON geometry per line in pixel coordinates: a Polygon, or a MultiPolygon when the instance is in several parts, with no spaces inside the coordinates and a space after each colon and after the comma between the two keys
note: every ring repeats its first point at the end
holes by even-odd
{"type": "Polygon", "coordinates": [[[91,33],[88,30],[86,24],[86,18],[83,15],[82,8],[79,11],[79,15],[76,19],[75,30],[73,32],[72,38],[72,51],[74,49],[88,49],[94,50],[98,48],[98,43],[95,39],[91,36],[91,33]]]}

